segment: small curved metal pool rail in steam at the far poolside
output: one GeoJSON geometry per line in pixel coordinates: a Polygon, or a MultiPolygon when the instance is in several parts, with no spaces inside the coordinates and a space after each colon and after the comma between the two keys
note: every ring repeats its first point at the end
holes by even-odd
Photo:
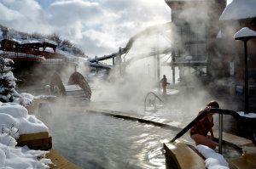
{"type": "MultiPolygon", "coordinates": [[[[165,104],[163,99],[160,98],[156,93],[154,92],[148,92],[145,99],[144,99],[144,111],[148,111],[150,109],[147,109],[148,107],[153,107],[153,111],[158,110],[160,107],[162,107],[165,104]],[[150,98],[153,96],[153,99],[150,98]]],[[[152,109],[151,109],[152,110],[152,109]]]]}

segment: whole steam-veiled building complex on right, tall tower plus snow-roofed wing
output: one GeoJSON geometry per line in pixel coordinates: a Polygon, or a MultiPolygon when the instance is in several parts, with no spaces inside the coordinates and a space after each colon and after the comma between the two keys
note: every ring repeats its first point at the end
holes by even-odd
{"type": "MultiPolygon", "coordinates": [[[[228,89],[230,83],[244,85],[244,45],[234,35],[243,27],[256,31],[256,1],[166,0],[172,10],[172,62],[183,81],[193,72],[203,81],[218,81],[228,89]],[[189,71],[188,71],[189,68],[189,71]]],[[[255,39],[247,44],[248,78],[255,91],[255,39]]],[[[174,69],[172,69],[174,70],[174,69]]],[[[256,92],[254,92],[256,93],[256,92]]]]}

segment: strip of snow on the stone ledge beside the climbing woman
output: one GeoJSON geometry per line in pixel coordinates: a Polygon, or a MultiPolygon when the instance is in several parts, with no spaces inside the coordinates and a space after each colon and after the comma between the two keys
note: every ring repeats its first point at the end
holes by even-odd
{"type": "Polygon", "coordinates": [[[197,145],[195,147],[201,155],[207,160],[205,161],[207,169],[228,169],[229,164],[224,160],[223,155],[216,153],[213,149],[205,145],[197,145]]]}

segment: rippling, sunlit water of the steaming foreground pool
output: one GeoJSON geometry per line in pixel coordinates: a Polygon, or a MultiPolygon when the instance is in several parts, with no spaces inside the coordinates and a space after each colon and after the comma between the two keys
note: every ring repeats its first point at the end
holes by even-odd
{"type": "MultiPolygon", "coordinates": [[[[53,149],[85,169],[168,168],[163,143],[177,134],[137,121],[82,111],[58,112],[47,126],[53,149]]],[[[182,138],[194,144],[188,134],[182,138]]]]}

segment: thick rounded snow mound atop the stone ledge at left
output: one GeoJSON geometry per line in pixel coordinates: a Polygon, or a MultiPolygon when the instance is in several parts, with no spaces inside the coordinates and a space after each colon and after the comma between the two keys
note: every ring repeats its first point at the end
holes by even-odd
{"type": "Polygon", "coordinates": [[[15,103],[0,102],[0,124],[10,127],[15,125],[20,134],[48,132],[48,127],[35,115],[28,115],[24,106],[15,103]]]}

